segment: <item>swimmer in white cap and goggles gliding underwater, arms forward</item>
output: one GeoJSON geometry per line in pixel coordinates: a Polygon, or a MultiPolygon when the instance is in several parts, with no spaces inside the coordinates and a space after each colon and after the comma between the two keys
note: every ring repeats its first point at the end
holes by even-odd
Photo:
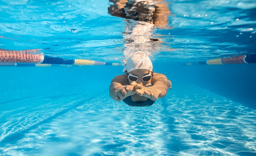
{"type": "Polygon", "coordinates": [[[152,62],[141,51],[134,53],[126,64],[126,74],[115,76],[109,87],[112,99],[129,106],[151,106],[165,97],[171,81],[164,74],[153,73],[152,62]]]}

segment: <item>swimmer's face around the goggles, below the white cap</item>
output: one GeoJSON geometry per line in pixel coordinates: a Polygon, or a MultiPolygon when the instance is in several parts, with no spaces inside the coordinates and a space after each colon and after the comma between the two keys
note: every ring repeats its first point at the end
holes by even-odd
{"type": "MultiPolygon", "coordinates": [[[[146,69],[135,69],[133,71],[130,71],[128,74],[132,74],[132,75],[138,76],[139,78],[142,78],[143,76],[145,76],[147,74],[151,74],[152,75],[152,72],[150,72],[149,70],[146,70],[146,69]]],[[[143,86],[148,86],[151,83],[151,79],[149,81],[143,81],[142,79],[139,79],[139,80],[137,80],[135,82],[138,83],[138,84],[141,84],[143,86]]],[[[130,84],[133,82],[129,78],[128,78],[128,80],[129,80],[130,84]]]]}

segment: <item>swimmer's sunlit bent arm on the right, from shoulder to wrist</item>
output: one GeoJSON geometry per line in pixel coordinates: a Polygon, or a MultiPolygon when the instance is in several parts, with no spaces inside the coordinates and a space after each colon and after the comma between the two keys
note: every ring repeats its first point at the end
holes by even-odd
{"type": "Polygon", "coordinates": [[[164,74],[154,73],[152,80],[152,86],[150,89],[158,92],[158,98],[163,98],[167,94],[169,88],[168,79],[164,74]]]}

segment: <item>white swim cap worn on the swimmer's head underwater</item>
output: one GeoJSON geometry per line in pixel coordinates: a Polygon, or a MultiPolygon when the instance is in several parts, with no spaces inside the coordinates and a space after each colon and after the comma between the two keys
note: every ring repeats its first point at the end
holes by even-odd
{"type": "Polygon", "coordinates": [[[138,51],[134,53],[126,63],[126,70],[129,73],[135,69],[146,69],[152,72],[153,65],[150,58],[143,52],[138,51]]]}

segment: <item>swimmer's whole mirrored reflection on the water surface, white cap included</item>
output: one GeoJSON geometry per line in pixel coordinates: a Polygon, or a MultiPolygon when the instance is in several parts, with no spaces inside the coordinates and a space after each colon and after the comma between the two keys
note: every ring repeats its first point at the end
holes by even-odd
{"type": "Polygon", "coordinates": [[[154,27],[170,28],[168,3],[162,0],[110,0],[110,2],[112,5],[108,7],[108,13],[122,17],[126,22],[123,36],[126,58],[137,51],[151,55],[163,49],[158,44],[162,41],[154,38],[153,30],[154,27]]]}

